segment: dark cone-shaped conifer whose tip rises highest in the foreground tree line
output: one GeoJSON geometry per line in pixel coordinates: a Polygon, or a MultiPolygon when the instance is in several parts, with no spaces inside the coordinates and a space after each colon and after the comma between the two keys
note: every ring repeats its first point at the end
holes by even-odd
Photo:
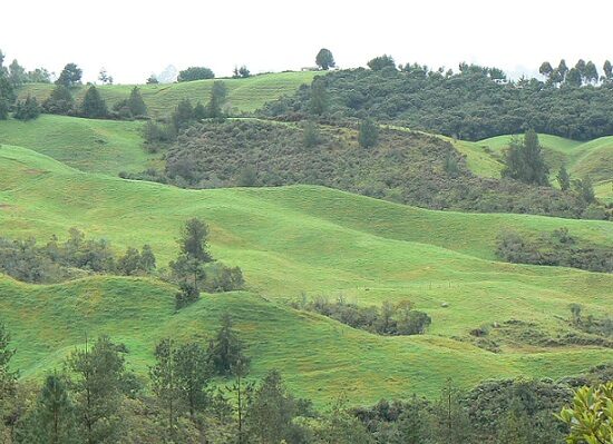
{"type": "Polygon", "coordinates": [[[213,368],[218,375],[231,375],[239,365],[244,371],[249,366],[249,358],[243,354],[244,346],[234,332],[230,314],[222,316],[221,324],[208,347],[213,368]]]}

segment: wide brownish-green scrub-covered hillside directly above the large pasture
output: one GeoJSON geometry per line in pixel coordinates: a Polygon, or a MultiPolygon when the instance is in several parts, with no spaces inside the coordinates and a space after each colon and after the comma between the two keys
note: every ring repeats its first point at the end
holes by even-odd
{"type": "Polygon", "coordinates": [[[575,193],[478,178],[437,137],[381,129],[377,145],[362,148],[357,132],[314,124],[206,121],[179,134],[166,155],[164,180],[194,188],[312,184],[434,209],[581,217],[588,207],[575,193]]]}

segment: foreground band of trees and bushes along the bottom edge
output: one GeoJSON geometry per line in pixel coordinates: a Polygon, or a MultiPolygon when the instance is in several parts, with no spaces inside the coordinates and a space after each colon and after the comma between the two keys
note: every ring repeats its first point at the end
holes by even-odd
{"type": "Polygon", "coordinates": [[[449,381],[434,399],[348,407],[340,397],[318,411],[292,395],[278,371],[251,377],[244,351],[224,315],[208,345],[162,338],[146,377],[127,368],[124,344],[101,335],[75,348],[61,369],[27,382],[11,366],[16,349],[0,323],[0,437],[8,444],[578,444],[612,437],[611,365],[557,382],[489,381],[470,391],[449,381]]]}

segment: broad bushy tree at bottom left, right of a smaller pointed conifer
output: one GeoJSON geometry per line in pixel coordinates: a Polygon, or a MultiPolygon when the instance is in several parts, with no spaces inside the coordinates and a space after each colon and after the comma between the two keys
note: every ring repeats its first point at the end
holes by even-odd
{"type": "Polygon", "coordinates": [[[87,444],[116,442],[121,434],[124,357],[108,336],[89,348],[70,354],[67,361],[76,412],[87,444]]]}

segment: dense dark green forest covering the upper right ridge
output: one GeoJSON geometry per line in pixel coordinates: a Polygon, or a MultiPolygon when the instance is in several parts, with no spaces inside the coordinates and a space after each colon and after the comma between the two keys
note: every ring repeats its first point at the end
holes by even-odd
{"type": "MultiPolygon", "coordinates": [[[[389,57],[369,65],[372,69],[334,71],[313,81],[325,85],[330,118],[370,117],[469,140],[531,128],[576,140],[613,135],[612,81],[506,81],[495,68],[467,65],[459,72],[418,65],[398,70],[389,57]]],[[[310,100],[305,86],[269,103],[263,114],[302,120],[311,114],[310,100]]]]}

